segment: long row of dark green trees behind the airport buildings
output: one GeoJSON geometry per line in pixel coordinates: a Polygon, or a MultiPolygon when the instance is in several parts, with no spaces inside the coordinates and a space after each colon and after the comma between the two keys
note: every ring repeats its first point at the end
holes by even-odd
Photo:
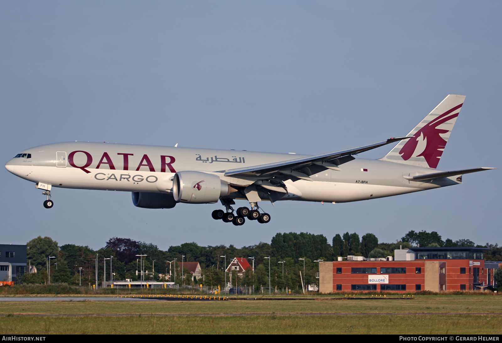
{"type": "MultiPolygon", "coordinates": [[[[59,246],[57,241],[50,237],[37,237],[27,243],[27,256],[29,264],[37,268],[37,273],[25,274],[25,283],[48,282],[48,263],[50,263],[51,282],[64,282],[73,285],[95,284],[96,258],[98,265],[98,284],[106,279],[110,280],[139,280],[137,274],[141,270],[140,257],[143,257],[144,269],[148,271],[147,279],[171,281],[179,285],[203,284],[205,286],[224,285],[225,268],[233,257],[254,257],[255,271],[246,270],[243,277],[227,275],[227,281],[232,279],[232,284],[237,281],[238,286],[254,286],[257,289],[268,286],[269,259],[271,286],[273,288],[301,289],[302,281],[305,284],[317,283],[317,261],[332,261],[339,256],[356,255],[364,257],[394,256],[394,250],[400,247],[430,246],[430,247],[484,247],[475,245],[469,239],[442,240],[435,231],[415,232],[405,234],[396,243],[379,242],[372,233],[366,233],[359,238],[357,233],[336,234],[331,244],[322,235],[311,233],[277,233],[271,243],[260,242],[256,245],[236,248],[233,245],[201,246],[195,242],[170,246],[167,251],[161,250],[153,243],[135,241],[130,238],[110,238],[104,247],[93,250],[88,246],[64,244],[59,246]],[[47,257],[54,256],[48,262],[47,257]],[[224,258],[226,263],[224,265],[224,258]],[[105,260],[106,259],[106,260],[105,260]],[[192,275],[185,268],[181,272],[181,262],[199,262],[202,268],[202,278],[195,283],[192,275]],[[175,261],[169,263],[168,261],[175,261]],[[106,262],[106,270],[104,269],[106,262]],[[110,263],[111,262],[111,263],[110,263]],[[155,269],[154,269],[155,268],[155,269]],[[170,269],[172,268],[172,269],[170,269]],[[176,268],[176,279],[174,269],[176,268]],[[171,275],[170,275],[171,274],[171,275]],[[168,276],[170,275],[170,276],[168,276]],[[182,277],[182,275],[184,277],[182,277]]],[[[497,244],[486,244],[490,249],[485,253],[486,260],[502,260],[502,247],[497,244]]],[[[248,259],[252,264],[252,259],[248,259]]]]}

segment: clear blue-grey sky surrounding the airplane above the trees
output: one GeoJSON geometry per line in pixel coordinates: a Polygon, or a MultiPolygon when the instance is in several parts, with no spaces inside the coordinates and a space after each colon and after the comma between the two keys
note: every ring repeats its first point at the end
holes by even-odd
{"type": "MultiPolygon", "coordinates": [[[[442,170],[500,167],[499,2],[3,2],[0,154],[97,141],[320,154],[406,135],[466,95],[442,170]]],[[[388,147],[361,154],[380,158],[388,147]]],[[[2,243],[42,235],[236,246],[277,232],[409,230],[499,242],[499,171],[456,187],[346,204],[265,204],[236,227],[219,208],[133,206],[130,193],[55,189],[54,207],[3,169],[2,243]]],[[[242,201],[242,204],[245,205],[242,201]]]]}

